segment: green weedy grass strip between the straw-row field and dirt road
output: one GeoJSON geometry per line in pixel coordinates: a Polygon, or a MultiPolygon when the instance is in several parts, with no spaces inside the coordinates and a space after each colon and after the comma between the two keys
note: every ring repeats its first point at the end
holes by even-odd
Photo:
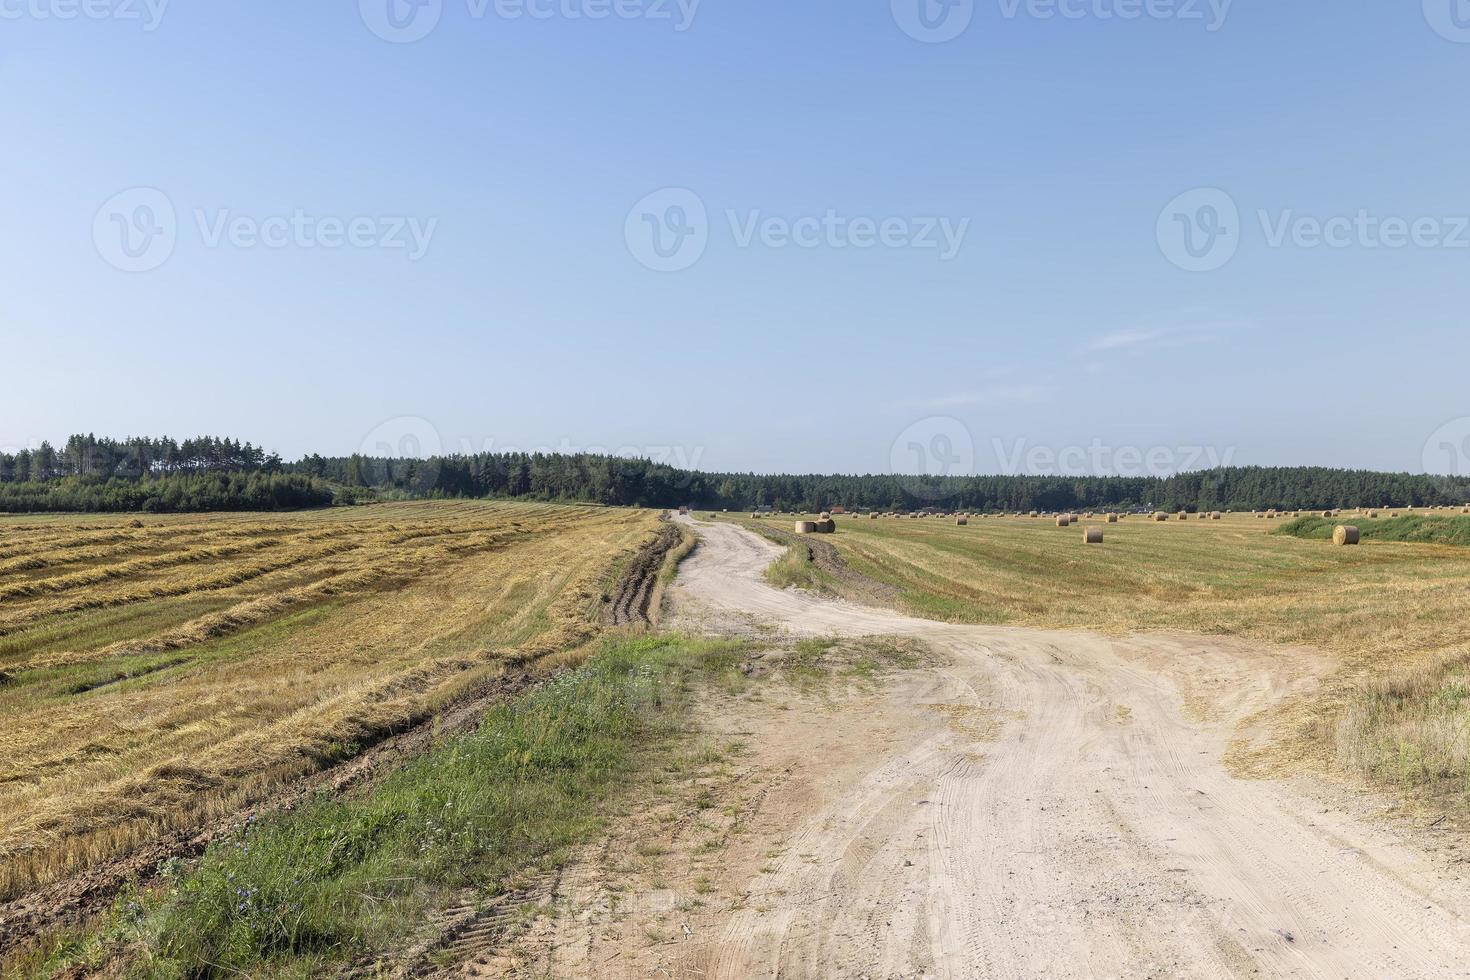
{"type": "Polygon", "coordinates": [[[121,955],[137,977],[312,976],[401,948],[459,889],[492,896],[595,835],[684,732],[691,682],[738,674],[742,657],[728,641],[610,642],[370,789],[251,823],[32,973],[121,955]]]}

